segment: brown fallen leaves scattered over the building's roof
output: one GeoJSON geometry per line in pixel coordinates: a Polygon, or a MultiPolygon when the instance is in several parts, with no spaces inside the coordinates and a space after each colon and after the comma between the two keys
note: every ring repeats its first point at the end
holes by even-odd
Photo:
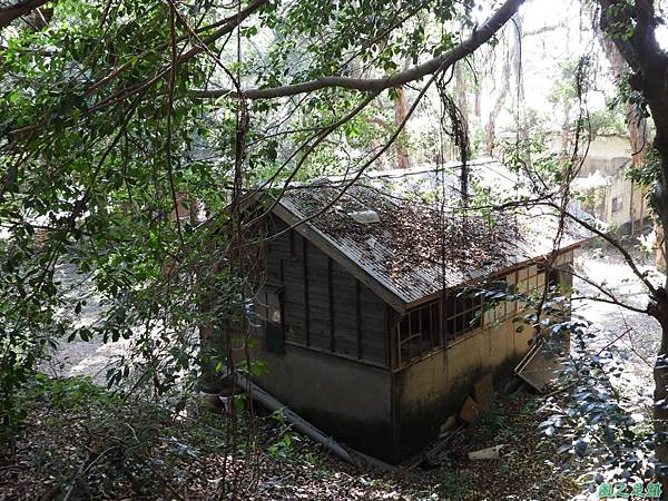
{"type": "Polygon", "coordinates": [[[366,247],[365,257],[384,266],[393,279],[405,277],[422,265],[493,265],[503,262],[522,238],[511,215],[454,213],[439,203],[394,198],[365,185],[352,186],[343,195],[341,190],[341,186],[320,181],[292,190],[287,198],[334,240],[350,238],[366,247]],[[374,212],[380,220],[358,223],[351,214],[360,212],[374,212]],[[377,244],[391,252],[375,253],[377,244]]]}

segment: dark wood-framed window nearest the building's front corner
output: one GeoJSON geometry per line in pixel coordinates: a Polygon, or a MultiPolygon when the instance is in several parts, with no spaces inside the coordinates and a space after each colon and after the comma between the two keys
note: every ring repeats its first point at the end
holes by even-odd
{"type": "Polygon", "coordinates": [[[399,325],[400,365],[441,346],[439,301],[409,312],[399,325]]]}

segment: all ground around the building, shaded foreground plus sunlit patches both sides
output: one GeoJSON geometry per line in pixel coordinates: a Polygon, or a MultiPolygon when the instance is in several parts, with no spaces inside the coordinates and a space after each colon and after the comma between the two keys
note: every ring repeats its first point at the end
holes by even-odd
{"type": "MultiPolygon", "coordinates": [[[[661,279],[649,263],[642,266],[661,279]]],[[[577,269],[607,279],[636,306],[646,301],[639,281],[611,250],[580,252],[577,269]]],[[[60,272],[73,286],[80,282],[67,267],[60,272]]],[[[582,295],[595,292],[579,279],[574,287],[582,295]]],[[[90,295],[76,287],[72,294],[90,295]]],[[[655,321],[590,299],[576,302],[573,311],[592,322],[595,345],[611,348],[625,363],[625,390],[647,396],[658,342],[655,321]]],[[[102,312],[90,296],[79,322],[96,322],[102,312]]],[[[146,400],[126,401],[104,390],[106,369],[126,348],[127,342],[63,342],[53,362],[41,367],[48,376],[37,377],[23,395],[30,402],[26,428],[12,449],[0,452],[0,501],[588,499],[578,483],[583,465],[557,452],[563,439],[538,431],[550,410],[537,395],[498,395],[491,411],[458,432],[438,468],[411,469],[412,460],[394,472],[361,473],[277,415],[258,411],[253,424],[242,418],[232,430],[220,412],[197,403],[175,416],[146,400]],[[507,448],[500,460],[466,458],[501,443],[507,448]]]]}

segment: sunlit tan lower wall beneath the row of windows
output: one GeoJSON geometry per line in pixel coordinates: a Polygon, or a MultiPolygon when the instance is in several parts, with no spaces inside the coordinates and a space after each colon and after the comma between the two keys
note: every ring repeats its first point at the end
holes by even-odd
{"type": "MultiPolygon", "coordinates": [[[[572,253],[567,253],[557,264],[571,259],[572,253]]],[[[505,279],[520,292],[541,289],[544,273],[532,265],[507,275],[505,279]]],[[[438,436],[441,424],[459,412],[482,374],[492,373],[497,387],[512,375],[513,367],[529,351],[533,335],[529,327],[517,332],[520,324],[513,317],[525,313],[514,302],[499,305],[485,312],[481,328],[393,373],[396,460],[418,452],[438,436]]]]}

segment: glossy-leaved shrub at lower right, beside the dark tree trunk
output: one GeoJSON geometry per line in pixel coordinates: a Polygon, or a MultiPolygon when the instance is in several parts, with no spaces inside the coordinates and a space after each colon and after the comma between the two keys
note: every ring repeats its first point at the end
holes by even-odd
{"type": "Polygon", "coordinates": [[[580,324],[571,331],[573,348],[564,357],[559,384],[572,387],[567,400],[556,405],[546,402],[553,413],[539,426],[546,434],[558,434],[566,443],[560,452],[571,453],[573,462],[586,462],[596,472],[591,491],[601,482],[648,481],[654,478],[654,433],[647,426],[645,409],[651,404],[646,396],[619,390],[623,363],[613,347],[593,352],[589,347],[591,331],[580,324]],[[617,380],[617,381],[616,381],[617,380]]]}

